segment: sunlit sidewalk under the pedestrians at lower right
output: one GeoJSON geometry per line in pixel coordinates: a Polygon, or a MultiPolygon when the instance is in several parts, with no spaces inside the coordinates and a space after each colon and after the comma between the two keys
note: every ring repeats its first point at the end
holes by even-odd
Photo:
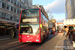
{"type": "Polygon", "coordinates": [[[57,36],[60,36],[60,41],[58,41],[54,50],[75,50],[72,46],[72,38],[65,37],[62,33],[59,33],[57,36]]]}

